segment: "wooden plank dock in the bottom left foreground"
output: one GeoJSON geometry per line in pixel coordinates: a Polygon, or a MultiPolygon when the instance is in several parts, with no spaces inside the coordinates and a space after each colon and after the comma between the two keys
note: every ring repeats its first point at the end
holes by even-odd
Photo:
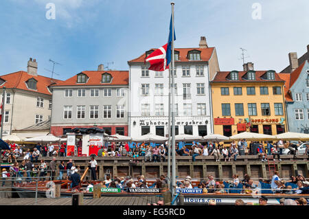
{"type": "MultiPolygon", "coordinates": [[[[83,205],[147,205],[163,200],[159,196],[104,196],[84,198],[83,205]]],[[[72,198],[0,198],[0,205],[72,205],[72,198]]]]}

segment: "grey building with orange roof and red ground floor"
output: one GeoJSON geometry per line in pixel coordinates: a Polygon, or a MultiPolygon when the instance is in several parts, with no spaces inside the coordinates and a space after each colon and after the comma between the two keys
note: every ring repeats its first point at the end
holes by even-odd
{"type": "Polygon", "coordinates": [[[128,71],[82,71],[52,87],[51,132],[104,128],[109,135],[128,135],[128,71]]]}

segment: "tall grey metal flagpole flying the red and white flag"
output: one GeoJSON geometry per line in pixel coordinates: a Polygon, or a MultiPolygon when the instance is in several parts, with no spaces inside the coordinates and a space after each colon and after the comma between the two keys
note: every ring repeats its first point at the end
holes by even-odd
{"type": "MultiPolygon", "coordinates": [[[[174,2],[170,3],[172,5],[172,70],[174,70],[174,2]]],[[[175,197],[175,189],[176,189],[176,160],[175,160],[175,100],[174,100],[174,73],[172,73],[172,84],[170,85],[172,88],[172,200],[174,200],[175,197]]],[[[176,205],[176,203],[174,203],[176,205]]]]}

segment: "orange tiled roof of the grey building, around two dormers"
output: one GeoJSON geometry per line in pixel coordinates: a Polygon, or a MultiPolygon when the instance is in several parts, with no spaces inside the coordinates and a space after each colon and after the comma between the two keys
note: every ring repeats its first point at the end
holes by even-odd
{"type": "Polygon", "coordinates": [[[75,76],[55,84],[53,87],[58,86],[76,86],[76,85],[128,85],[128,71],[82,71],[75,76]],[[77,76],[80,73],[84,73],[88,80],[86,83],[78,83],[77,76]],[[110,73],[113,77],[111,83],[102,83],[102,74],[110,73]]]}

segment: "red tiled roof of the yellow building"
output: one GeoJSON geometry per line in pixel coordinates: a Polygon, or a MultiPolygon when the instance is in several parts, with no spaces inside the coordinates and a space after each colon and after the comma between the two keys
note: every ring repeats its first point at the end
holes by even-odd
{"type": "Polygon", "coordinates": [[[275,73],[275,80],[265,80],[261,78],[266,72],[267,71],[255,71],[255,80],[246,80],[242,77],[247,73],[247,71],[238,71],[238,80],[229,80],[227,76],[229,76],[231,71],[218,71],[214,77],[214,80],[211,82],[284,82],[284,80],[278,76],[278,73],[275,73]]]}

